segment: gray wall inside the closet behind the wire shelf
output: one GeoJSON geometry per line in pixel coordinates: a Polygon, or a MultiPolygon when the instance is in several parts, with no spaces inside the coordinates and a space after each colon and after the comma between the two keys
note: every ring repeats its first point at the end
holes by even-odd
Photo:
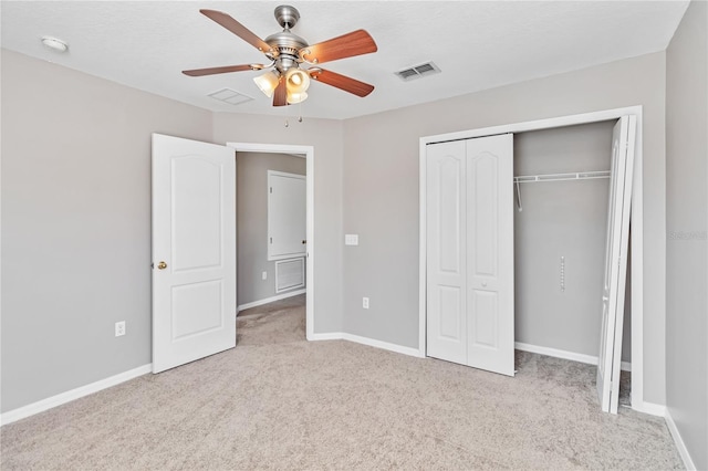
{"type": "MultiPolygon", "coordinates": [[[[514,176],[607,170],[615,123],[516,134],[514,176]]],[[[525,182],[518,188],[522,210],[514,198],[516,342],[597,357],[610,179],[525,182]]],[[[623,362],[631,362],[632,352],[629,287],[627,283],[623,362]]]]}

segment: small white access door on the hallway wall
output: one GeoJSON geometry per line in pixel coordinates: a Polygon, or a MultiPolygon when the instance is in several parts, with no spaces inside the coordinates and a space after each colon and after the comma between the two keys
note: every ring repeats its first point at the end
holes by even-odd
{"type": "Polygon", "coordinates": [[[305,182],[303,175],[268,170],[268,260],[303,257],[306,252],[305,182]]]}

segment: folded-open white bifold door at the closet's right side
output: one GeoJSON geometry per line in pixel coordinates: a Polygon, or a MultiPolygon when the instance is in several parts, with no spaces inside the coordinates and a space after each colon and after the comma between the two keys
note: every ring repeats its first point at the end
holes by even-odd
{"type": "Polygon", "coordinates": [[[623,116],[615,125],[612,136],[602,331],[597,362],[597,396],[602,410],[612,414],[617,414],[620,397],[635,135],[635,116],[623,116]]]}

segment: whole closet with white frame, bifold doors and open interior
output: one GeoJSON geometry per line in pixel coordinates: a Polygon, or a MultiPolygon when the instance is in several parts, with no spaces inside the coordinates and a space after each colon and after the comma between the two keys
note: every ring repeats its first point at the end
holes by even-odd
{"type": "Polygon", "coordinates": [[[596,364],[603,410],[645,410],[632,250],[641,106],[420,139],[421,356],[508,376],[530,354],[596,364]]]}

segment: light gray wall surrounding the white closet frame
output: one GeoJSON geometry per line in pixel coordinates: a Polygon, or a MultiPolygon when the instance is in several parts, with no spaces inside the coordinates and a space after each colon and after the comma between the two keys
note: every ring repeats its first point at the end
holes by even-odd
{"type": "MultiPolygon", "coordinates": [[[[665,59],[659,52],[346,121],[344,232],[358,233],[360,245],[344,251],[345,331],[418,346],[420,137],[642,105],[644,394],[665,404],[665,59]]],[[[425,80],[435,86],[435,76],[425,80]]]]}

